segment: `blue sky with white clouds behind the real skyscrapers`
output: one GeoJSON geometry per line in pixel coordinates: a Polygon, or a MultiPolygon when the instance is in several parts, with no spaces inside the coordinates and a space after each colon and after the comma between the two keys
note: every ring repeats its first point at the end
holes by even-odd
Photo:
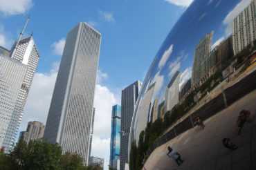
{"type": "MultiPolygon", "coordinates": [[[[242,1],[245,3],[241,6],[246,6],[250,0],[242,1]]],[[[0,46],[11,48],[30,15],[24,36],[34,32],[33,38],[40,56],[20,130],[26,130],[28,121],[46,123],[66,35],[78,22],[87,22],[102,35],[94,100],[96,111],[92,155],[104,158],[106,169],[109,164],[111,107],[120,104],[123,88],[137,79],[143,81],[165,37],[191,2],[0,0],[0,46]]],[[[209,0],[208,3],[216,6],[219,0],[209,0]]],[[[201,17],[208,16],[202,13],[201,17]]],[[[227,14],[227,24],[228,21],[227,14]]],[[[225,29],[228,35],[228,28],[225,29]]],[[[226,35],[214,37],[212,43],[218,44],[226,39],[226,35]]],[[[171,46],[165,48],[170,49],[171,46]]],[[[183,55],[185,57],[186,54],[183,55]]],[[[181,71],[185,73],[188,67],[184,66],[181,71]]],[[[191,74],[191,68],[188,72],[191,74]]]]}

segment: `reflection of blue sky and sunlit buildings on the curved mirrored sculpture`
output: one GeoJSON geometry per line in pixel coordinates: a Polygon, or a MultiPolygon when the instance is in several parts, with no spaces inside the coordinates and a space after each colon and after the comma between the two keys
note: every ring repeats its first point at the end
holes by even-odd
{"type": "Polygon", "coordinates": [[[163,118],[172,109],[177,103],[172,96],[180,96],[179,102],[183,101],[190,89],[201,86],[223,62],[253,43],[256,37],[255,7],[255,0],[192,2],[167,35],[149,67],[131,122],[130,146],[133,141],[138,145],[140,132],[156,120],[156,115],[163,118]],[[244,29],[239,29],[242,25],[244,29]],[[180,72],[179,76],[177,72],[180,72]],[[175,76],[174,85],[179,91],[168,86],[175,76]],[[189,86],[187,82],[190,82],[189,86]],[[179,95],[181,86],[186,89],[179,95]],[[155,113],[156,102],[158,113],[155,113]]]}

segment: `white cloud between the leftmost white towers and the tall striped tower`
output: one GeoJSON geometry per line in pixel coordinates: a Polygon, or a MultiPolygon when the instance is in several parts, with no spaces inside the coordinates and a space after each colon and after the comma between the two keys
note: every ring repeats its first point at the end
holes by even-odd
{"type": "Polygon", "coordinates": [[[58,62],[54,63],[49,73],[35,73],[24,108],[21,131],[26,131],[29,121],[39,121],[46,124],[59,65],[58,62]]]}

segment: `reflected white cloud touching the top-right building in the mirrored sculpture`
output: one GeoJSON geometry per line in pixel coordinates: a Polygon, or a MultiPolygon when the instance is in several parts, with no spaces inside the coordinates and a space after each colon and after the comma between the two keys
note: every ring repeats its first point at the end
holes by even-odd
{"type": "Polygon", "coordinates": [[[230,35],[232,32],[232,20],[239,15],[239,13],[249,5],[251,0],[241,0],[241,2],[237,3],[234,9],[232,9],[225,19],[222,21],[223,25],[228,25],[225,32],[226,35],[230,35]]]}

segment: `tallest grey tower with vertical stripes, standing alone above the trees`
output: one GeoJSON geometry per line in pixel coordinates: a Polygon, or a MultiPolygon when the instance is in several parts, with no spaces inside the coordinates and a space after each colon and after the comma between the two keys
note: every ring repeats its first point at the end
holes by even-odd
{"type": "Polygon", "coordinates": [[[62,152],[80,153],[88,164],[100,33],[87,23],[68,32],[44,131],[62,152]]]}

